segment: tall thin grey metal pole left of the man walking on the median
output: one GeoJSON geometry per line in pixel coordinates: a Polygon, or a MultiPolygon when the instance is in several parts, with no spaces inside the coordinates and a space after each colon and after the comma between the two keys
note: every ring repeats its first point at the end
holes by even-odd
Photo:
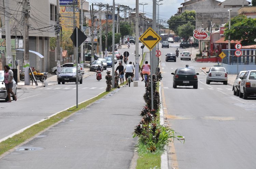
{"type": "Polygon", "coordinates": [[[115,0],[112,8],[112,88],[115,88],[115,0]]]}

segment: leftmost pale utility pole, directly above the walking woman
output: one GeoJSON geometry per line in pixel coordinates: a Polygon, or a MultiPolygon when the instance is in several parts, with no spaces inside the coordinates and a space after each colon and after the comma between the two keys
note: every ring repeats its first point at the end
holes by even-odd
{"type": "Polygon", "coordinates": [[[3,10],[4,10],[4,20],[5,20],[5,43],[6,43],[5,64],[8,65],[9,64],[8,61],[12,57],[9,0],[3,0],[3,10]]]}

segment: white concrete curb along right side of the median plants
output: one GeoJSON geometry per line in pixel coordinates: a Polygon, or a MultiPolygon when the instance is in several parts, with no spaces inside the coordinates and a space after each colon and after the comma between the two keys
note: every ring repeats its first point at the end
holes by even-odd
{"type": "MultiPolygon", "coordinates": [[[[159,94],[160,94],[160,101],[161,101],[161,105],[160,105],[160,125],[164,125],[165,124],[165,119],[163,116],[163,107],[162,107],[162,94],[161,94],[161,84],[159,83],[159,94]]],[[[167,153],[167,146],[165,146],[165,151],[163,152],[163,154],[161,155],[161,169],[168,169],[168,153],[167,153]]]]}

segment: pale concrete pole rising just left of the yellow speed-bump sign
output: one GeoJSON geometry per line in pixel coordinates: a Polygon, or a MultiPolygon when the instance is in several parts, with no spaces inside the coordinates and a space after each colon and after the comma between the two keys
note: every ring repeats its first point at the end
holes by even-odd
{"type": "Polygon", "coordinates": [[[136,0],[135,19],[135,80],[139,80],[139,0],[136,0]]]}

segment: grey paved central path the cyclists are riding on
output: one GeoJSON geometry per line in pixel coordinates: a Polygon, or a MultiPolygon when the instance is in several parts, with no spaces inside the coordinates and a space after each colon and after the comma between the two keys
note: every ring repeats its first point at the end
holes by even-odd
{"type": "Polygon", "coordinates": [[[129,168],[144,82],[122,87],[43,132],[0,160],[1,168],[129,168]],[[134,99],[138,98],[138,99],[134,99]],[[29,163],[28,163],[29,162],[29,163]]]}

